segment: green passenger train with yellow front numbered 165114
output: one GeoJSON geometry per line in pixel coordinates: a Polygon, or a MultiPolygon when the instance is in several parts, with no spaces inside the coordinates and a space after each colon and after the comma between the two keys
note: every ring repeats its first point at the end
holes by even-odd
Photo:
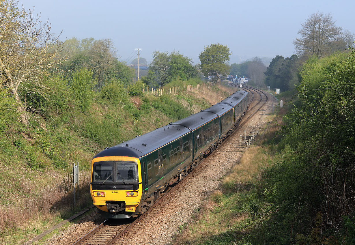
{"type": "Polygon", "coordinates": [[[93,205],[107,219],[140,216],[218,148],[248,103],[248,92],[237,91],[187,118],[105,148],[92,159],[93,205]]]}

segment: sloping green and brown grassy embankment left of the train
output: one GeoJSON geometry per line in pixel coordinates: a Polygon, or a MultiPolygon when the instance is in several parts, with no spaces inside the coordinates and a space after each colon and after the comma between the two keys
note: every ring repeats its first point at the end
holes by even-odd
{"type": "Polygon", "coordinates": [[[122,93],[109,100],[96,94],[86,113],[69,102],[61,113],[48,109],[32,118],[29,130],[1,94],[0,244],[22,244],[90,205],[90,162],[104,147],[189,116],[234,92],[198,80],[175,81],[169,87],[162,96],[122,93]],[[189,84],[192,91],[185,88],[189,84]],[[177,86],[175,94],[167,92],[177,86]],[[77,161],[80,190],[73,207],[70,172],[77,161]]]}

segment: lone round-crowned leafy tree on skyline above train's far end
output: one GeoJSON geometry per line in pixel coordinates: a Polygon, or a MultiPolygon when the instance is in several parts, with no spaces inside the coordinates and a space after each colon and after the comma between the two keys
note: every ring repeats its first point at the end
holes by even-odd
{"type": "Polygon", "coordinates": [[[229,52],[227,45],[213,44],[204,47],[204,50],[200,53],[200,68],[205,77],[216,76],[217,83],[220,84],[219,75],[226,75],[229,66],[229,56],[232,53],[229,52]]]}

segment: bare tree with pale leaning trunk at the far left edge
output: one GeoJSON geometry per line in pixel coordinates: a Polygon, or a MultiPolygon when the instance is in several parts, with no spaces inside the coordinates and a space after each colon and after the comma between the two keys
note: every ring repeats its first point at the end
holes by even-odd
{"type": "Polygon", "coordinates": [[[27,127],[28,117],[19,91],[31,92],[34,84],[44,87],[41,78],[49,76],[66,59],[58,58],[63,43],[50,29],[48,21],[42,23],[33,10],[20,10],[15,0],[0,0],[1,86],[10,89],[21,122],[27,127]]]}

